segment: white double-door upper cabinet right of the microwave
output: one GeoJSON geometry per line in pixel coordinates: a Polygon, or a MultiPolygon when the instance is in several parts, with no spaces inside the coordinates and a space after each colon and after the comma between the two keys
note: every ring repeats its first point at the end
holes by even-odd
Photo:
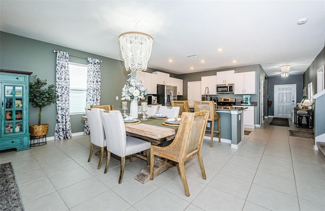
{"type": "Polygon", "coordinates": [[[234,94],[256,94],[255,92],[255,72],[235,73],[234,94]]]}

